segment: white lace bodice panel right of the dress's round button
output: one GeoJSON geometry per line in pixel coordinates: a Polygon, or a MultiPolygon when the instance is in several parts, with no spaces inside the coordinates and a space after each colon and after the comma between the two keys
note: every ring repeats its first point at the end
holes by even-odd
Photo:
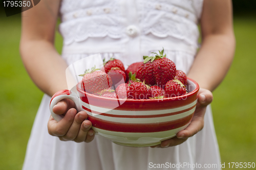
{"type": "Polygon", "coordinates": [[[141,16],[142,33],[157,37],[172,36],[195,44],[199,31],[195,14],[166,3],[147,2],[141,16]]]}

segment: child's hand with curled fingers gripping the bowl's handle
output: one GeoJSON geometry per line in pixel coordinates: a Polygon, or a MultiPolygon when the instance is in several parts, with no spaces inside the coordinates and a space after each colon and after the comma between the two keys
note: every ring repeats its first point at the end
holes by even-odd
{"type": "Polygon", "coordinates": [[[73,101],[64,99],[58,102],[53,107],[53,112],[55,114],[65,114],[65,116],[59,122],[50,116],[48,122],[50,135],[58,136],[63,141],[91,142],[93,140],[95,133],[91,129],[92,123],[85,120],[87,119],[87,113],[84,111],[77,113],[73,101]]]}

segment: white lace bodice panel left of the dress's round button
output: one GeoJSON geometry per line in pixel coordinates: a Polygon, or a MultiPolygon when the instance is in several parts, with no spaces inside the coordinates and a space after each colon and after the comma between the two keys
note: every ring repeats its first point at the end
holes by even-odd
{"type": "Polygon", "coordinates": [[[88,37],[121,38],[121,16],[116,1],[95,1],[91,8],[86,8],[89,4],[81,1],[76,10],[72,4],[65,0],[61,6],[62,23],[59,25],[59,32],[66,45],[88,37]],[[65,3],[70,3],[70,7],[65,3]]]}

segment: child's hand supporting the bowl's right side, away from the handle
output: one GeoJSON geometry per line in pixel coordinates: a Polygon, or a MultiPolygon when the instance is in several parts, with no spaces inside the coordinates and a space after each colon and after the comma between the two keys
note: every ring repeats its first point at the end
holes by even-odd
{"type": "Polygon", "coordinates": [[[212,93],[209,90],[200,88],[198,91],[198,102],[197,107],[194,113],[194,116],[191,120],[191,123],[189,126],[177,133],[176,137],[173,137],[171,139],[167,139],[161,142],[161,144],[153,146],[151,148],[162,148],[162,147],[173,147],[178,144],[183,143],[187,140],[187,138],[195,135],[204,127],[204,114],[206,111],[206,106],[209,105],[212,101],[212,93]]]}

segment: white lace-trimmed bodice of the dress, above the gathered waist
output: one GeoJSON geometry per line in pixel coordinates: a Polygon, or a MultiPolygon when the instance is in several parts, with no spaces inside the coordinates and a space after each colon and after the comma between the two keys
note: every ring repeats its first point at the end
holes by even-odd
{"type": "Polygon", "coordinates": [[[63,53],[122,53],[198,48],[203,0],[63,0],[59,31],[63,53]]]}

